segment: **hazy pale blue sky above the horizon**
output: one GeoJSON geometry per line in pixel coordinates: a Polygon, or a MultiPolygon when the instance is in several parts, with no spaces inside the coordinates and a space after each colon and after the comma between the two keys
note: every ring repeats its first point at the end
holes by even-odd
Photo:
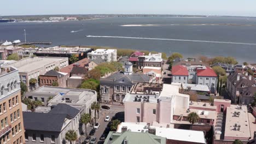
{"type": "Polygon", "coordinates": [[[256,16],[255,0],[3,0],[0,15],[198,14],[256,16]]]}

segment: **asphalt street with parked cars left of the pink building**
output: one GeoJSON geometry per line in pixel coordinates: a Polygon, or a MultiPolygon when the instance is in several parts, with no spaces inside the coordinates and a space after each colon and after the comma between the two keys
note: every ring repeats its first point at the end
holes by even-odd
{"type": "MultiPolygon", "coordinates": [[[[96,129],[95,134],[91,135],[91,137],[96,137],[97,141],[96,143],[104,143],[104,141],[100,140],[101,135],[104,133],[104,130],[107,128],[108,123],[111,121],[111,119],[116,116],[116,118],[120,119],[121,121],[124,120],[124,106],[119,106],[119,105],[108,105],[110,107],[109,110],[106,109],[101,109],[99,116],[100,118],[97,118],[97,113],[96,113],[96,122],[100,123],[100,127],[96,129]],[[104,119],[106,116],[110,116],[110,121],[105,122],[104,119]]],[[[89,135],[91,129],[93,127],[88,124],[87,127],[87,134],[89,135]]],[[[107,136],[107,134],[106,134],[107,136]]],[[[85,136],[80,137],[80,143],[84,142],[85,136]]]]}

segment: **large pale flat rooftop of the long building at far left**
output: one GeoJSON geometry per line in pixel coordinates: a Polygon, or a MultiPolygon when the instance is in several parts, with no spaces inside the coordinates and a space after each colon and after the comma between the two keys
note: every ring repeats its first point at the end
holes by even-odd
{"type": "Polygon", "coordinates": [[[65,57],[28,57],[7,65],[18,68],[19,73],[28,73],[30,71],[43,68],[44,65],[59,62],[65,59],[68,60],[68,58],[65,57]]]}

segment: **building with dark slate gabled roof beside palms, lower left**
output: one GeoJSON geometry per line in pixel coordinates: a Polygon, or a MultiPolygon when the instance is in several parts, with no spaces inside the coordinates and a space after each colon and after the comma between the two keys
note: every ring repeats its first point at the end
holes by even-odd
{"type": "Polygon", "coordinates": [[[68,130],[74,130],[77,136],[80,113],[78,109],[66,104],[57,104],[49,112],[23,112],[25,142],[32,143],[70,143],[65,139],[68,130]]]}

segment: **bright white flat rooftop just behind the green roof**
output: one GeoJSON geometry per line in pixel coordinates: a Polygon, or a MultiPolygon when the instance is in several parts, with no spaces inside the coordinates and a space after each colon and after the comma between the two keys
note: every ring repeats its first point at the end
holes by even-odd
{"type": "MultiPolygon", "coordinates": [[[[146,131],[148,130],[147,123],[139,123],[139,124],[121,123],[118,126],[117,133],[121,133],[122,127],[127,127],[127,130],[131,130],[132,132],[146,133],[146,131]]],[[[150,128],[156,129],[155,135],[166,137],[166,139],[169,139],[169,140],[206,143],[203,131],[154,127],[154,126],[150,126],[150,128]]]]}

